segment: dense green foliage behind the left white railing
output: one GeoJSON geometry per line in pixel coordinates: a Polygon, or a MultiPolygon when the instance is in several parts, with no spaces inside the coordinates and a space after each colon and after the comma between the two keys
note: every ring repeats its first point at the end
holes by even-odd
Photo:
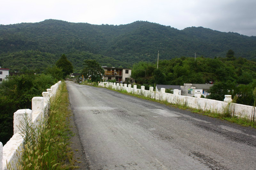
{"type": "Polygon", "coordinates": [[[31,109],[32,98],[42,96],[42,92],[57,82],[51,75],[23,71],[24,74],[9,76],[0,84],[0,138],[3,144],[13,135],[13,113],[18,109],[31,109]]]}

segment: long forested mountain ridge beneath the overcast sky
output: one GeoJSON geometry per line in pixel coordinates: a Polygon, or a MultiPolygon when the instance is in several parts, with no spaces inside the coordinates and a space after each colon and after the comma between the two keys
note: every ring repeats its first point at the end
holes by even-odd
{"type": "Polygon", "coordinates": [[[38,23],[0,25],[0,59],[6,59],[9,53],[34,50],[52,55],[47,61],[53,63],[65,53],[75,61],[75,69],[81,69],[81,60],[86,59],[84,54],[99,57],[104,65],[131,67],[139,61],[156,61],[157,50],[160,59],[171,59],[193,56],[195,52],[198,56],[224,57],[229,49],[237,57],[256,59],[256,37],[203,27],[178,30],[146,21],[114,26],[47,19],[38,23]],[[74,54],[80,55],[79,60],[74,54]]]}

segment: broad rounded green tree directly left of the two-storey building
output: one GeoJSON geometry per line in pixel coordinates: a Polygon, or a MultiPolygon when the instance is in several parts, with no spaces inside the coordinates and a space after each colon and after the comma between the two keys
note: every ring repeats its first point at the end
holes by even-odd
{"type": "Polygon", "coordinates": [[[84,60],[84,69],[82,74],[85,78],[91,78],[92,81],[100,81],[104,74],[104,69],[96,60],[84,60]]]}

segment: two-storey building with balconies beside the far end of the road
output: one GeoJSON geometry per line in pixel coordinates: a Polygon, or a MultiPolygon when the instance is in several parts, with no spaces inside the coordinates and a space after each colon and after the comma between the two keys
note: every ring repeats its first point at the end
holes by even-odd
{"type": "Polygon", "coordinates": [[[128,82],[130,80],[132,69],[124,69],[124,68],[115,68],[115,67],[102,67],[105,71],[102,76],[104,81],[114,80],[117,82],[128,82]]]}

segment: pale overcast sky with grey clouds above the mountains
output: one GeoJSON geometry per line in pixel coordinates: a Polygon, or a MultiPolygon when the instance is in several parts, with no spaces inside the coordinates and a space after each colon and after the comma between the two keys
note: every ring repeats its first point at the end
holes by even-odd
{"type": "Polygon", "coordinates": [[[203,26],[256,36],[256,0],[2,0],[0,24],[60,19],[90,24],[137,20],[179,30],[203,26]]]}

